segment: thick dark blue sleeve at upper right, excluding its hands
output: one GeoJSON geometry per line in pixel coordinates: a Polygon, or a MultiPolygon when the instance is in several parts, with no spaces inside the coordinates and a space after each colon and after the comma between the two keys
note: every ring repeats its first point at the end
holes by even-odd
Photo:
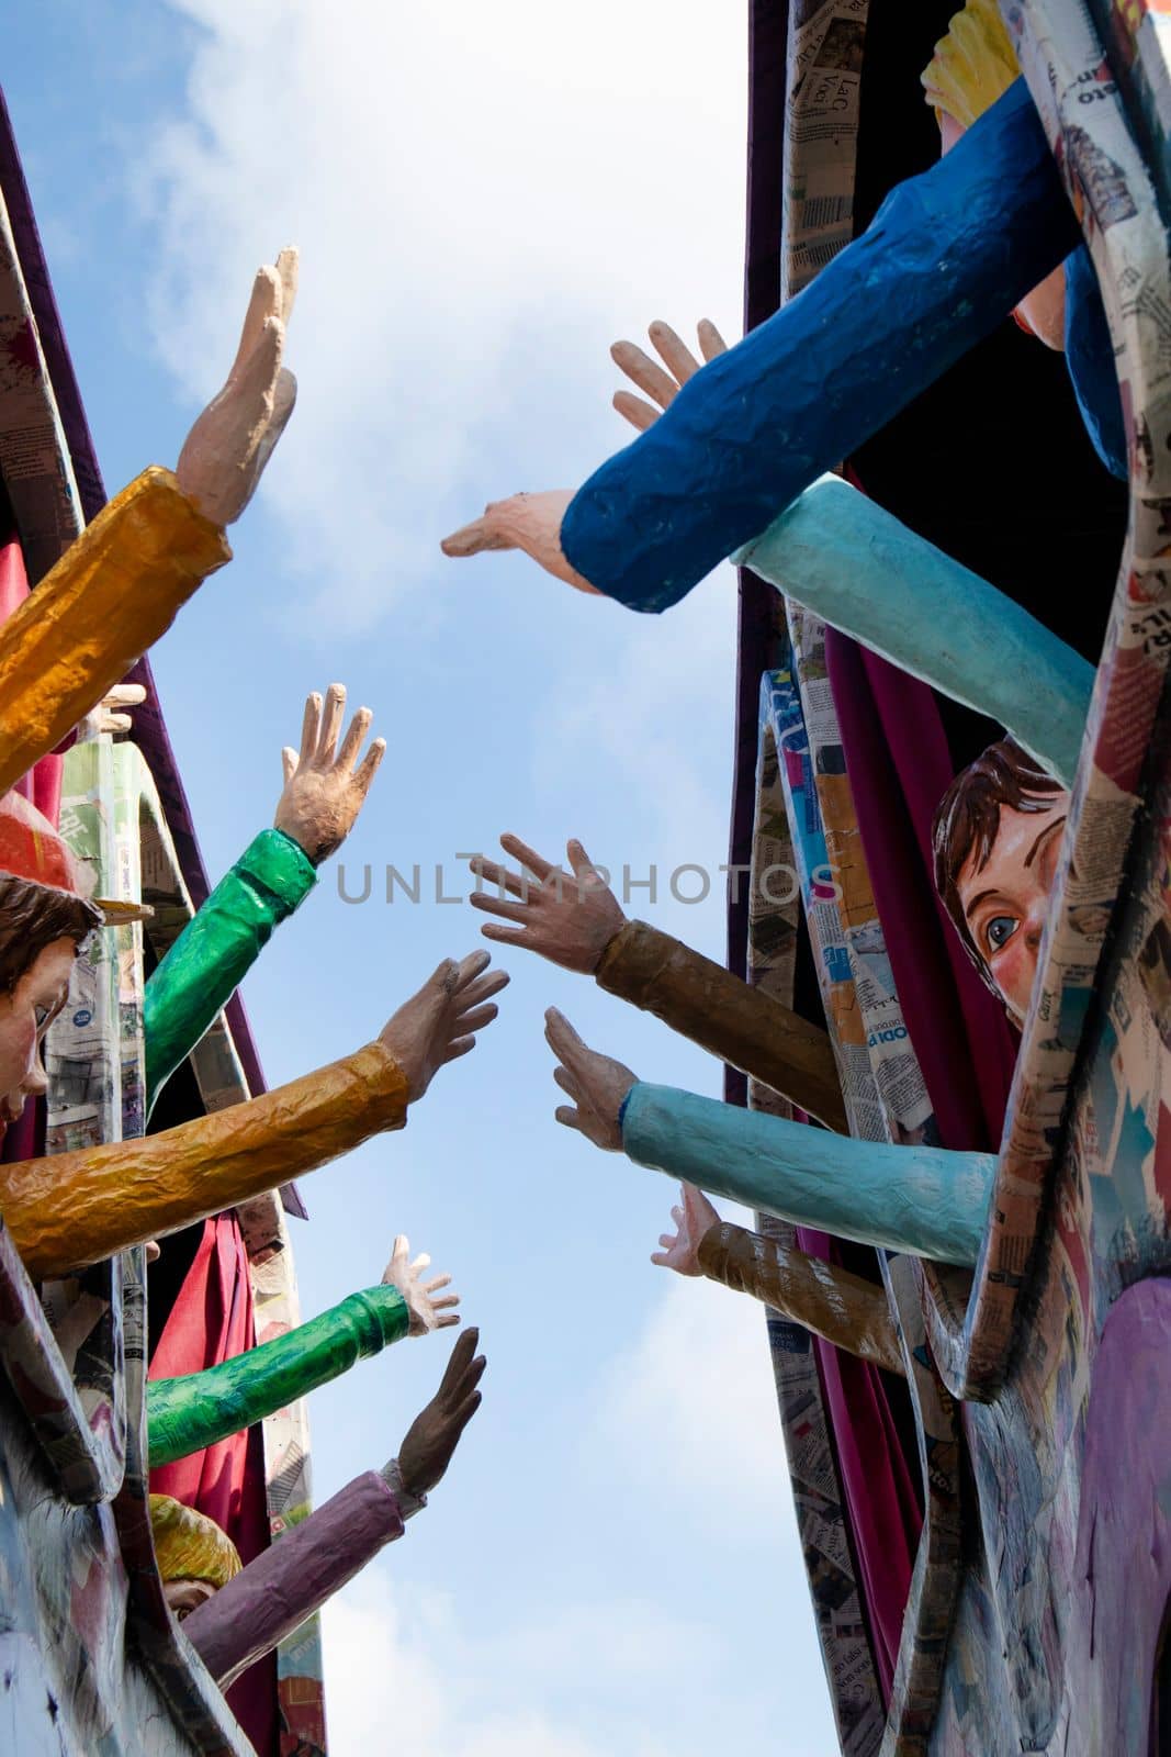
{"type": "Polygon", "coordinates": [[[562,548],[667,610],[987,336],[1078,244],[1018,79],[760,329],[692,378],[572,499],[562,548]]]}

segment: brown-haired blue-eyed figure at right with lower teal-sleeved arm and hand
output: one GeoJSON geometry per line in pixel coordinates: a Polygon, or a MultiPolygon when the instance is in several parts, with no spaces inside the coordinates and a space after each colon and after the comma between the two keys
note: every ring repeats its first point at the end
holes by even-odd
{"type": "MultiPolygon", "coordinates": [[[[1001,740],[955,778],[936,813],[939,894],[1017,1024],[1024,1024],[1036,980],[1067,803],[1052,775],[1001,740]]],[[[502,912],[488,898],[479,907],[502,912]]],[[[553,919],[546,905],[532,917],[527,908],[532,905],[507,905],[507,919],[553,919]]],[[[532,926],[497,928],[492,936],[532,945],[541,942],[541,928],[535,940],[532,926]]],[[[558,1058],[555,1079],[572,1100],[558,1107],[557,1119],[595,1146],[841,1239],[948,1263],[976,1262],[992,1154],[839,1140],[783,1117],[648,1086],[620,1061],[588,1049],[555,1009],[546,1021],[558,1058]]],[[[799,1311],[792,1316],[804,1323],[799,1311]]]]}

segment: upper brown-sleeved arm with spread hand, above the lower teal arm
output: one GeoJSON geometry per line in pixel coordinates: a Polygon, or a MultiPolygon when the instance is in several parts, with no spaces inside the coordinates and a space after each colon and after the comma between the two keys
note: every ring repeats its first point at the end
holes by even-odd
{"type": "Polygon", "coordinates": [[[627,921],[579,842],[569,871],[518,836],[500,847],[520,866],[478,854],[472,871],[495,889],[471,901],[497,921],[485,936],[595,977],[599,987],[653,1012],[722,1061],[771,1086],[827,1128],[848,1132],[829,1035],[644,921],[627,921]]]}

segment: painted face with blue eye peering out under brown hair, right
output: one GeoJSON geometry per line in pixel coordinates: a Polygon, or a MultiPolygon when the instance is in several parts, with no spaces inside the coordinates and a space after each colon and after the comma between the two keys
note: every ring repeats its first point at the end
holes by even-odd
{"type": "Polygon", "coordinates": [[[992,852],[976,871],[969,854],[957,891],[976,951],[1017,1024],[1024,1024],[1038,973],[1069,794],[1046,794],[1036,812],[1001,806],[992,852]]]}

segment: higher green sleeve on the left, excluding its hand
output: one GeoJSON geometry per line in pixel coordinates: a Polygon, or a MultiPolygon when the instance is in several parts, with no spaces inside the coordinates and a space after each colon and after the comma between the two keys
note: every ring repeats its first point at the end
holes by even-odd
{"type": "Polygon", "coordinates": [[[318,882],[309,856],[283,829],[262,829],[186,924],[146,984],[147,1114],[251,970],[272,929],[318,882]]]}

